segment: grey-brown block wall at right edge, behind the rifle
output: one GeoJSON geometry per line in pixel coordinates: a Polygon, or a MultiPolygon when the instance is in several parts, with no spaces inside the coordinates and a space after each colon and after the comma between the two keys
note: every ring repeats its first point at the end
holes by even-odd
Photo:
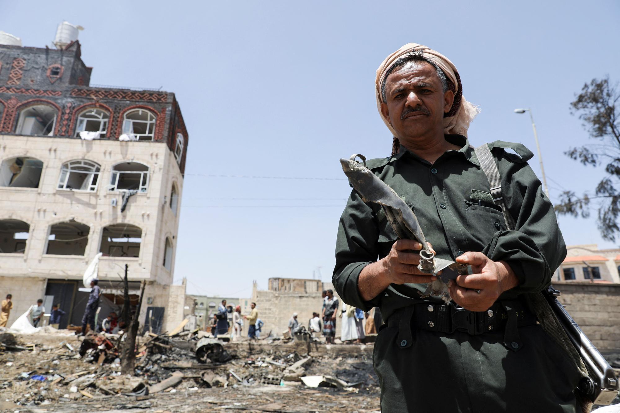
{"type": "Polygon", "coordinates": [[[556,282],[558,298],[601,353],[620,352],[620,284],[556,282]]]}

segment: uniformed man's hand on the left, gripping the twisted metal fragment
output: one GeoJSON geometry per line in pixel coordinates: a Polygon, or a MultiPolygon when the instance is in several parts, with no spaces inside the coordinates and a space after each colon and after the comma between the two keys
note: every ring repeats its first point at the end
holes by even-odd
{"type": "MultiPolygon", "coordinates": [[[[428,247],[435,254],[430,242],[428,242],[428,247]]],[[[379,262],[383,262],[384,275],[391,284],[421,284],[430,283],[437,279],[434,275],[418,270],[418,264],[420,264],[420,253],[418,251],[420,249],[422,249],[422,244],[411,239],[399,239],[392,244],[389,254],[379,260],[379,262]]]]}

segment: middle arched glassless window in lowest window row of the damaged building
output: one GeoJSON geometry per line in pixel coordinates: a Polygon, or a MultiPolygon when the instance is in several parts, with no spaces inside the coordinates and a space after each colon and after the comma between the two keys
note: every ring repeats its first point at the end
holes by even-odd
{"type": "Polygon", "coordinates": [[[76,220],[50,226],[45,254],[84,255],[91,228],[76,220]]]}

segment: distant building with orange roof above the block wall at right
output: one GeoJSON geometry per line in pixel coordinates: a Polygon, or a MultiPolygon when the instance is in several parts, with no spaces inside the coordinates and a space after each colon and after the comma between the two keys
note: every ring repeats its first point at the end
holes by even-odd
{"type": "Polygon", "coordinates": [[[568,246],[567,251],[558,270],[561,281],[620,283],[620,249],[586,244],[568,246]]]}

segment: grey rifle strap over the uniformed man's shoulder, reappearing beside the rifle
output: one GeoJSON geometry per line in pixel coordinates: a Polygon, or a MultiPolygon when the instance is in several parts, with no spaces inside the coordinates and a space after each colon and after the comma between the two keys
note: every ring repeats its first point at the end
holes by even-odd
{"type": "MultiPolygon", "coordinates": [[[[480,162],[480,168],[482,168],[482,171],[485,175],[487,175],[487,179],[489,180],[489,189],[494,202],[502,208],[506,229],[514,229],[515,220],[513,220],[510,215],[510,211],[508,211],[505,206],[502,195],[502,180],[500,179],[500,171],[497,169],[497,164],[495,164],[495,159],[491,154],[489,145],[481,145],[477,147],[475,151],[478,161],[480,162]]],[[[570,342],[568,335],[566,335],[564,328],[562,328],[560,321],[557,319],[556,314],[551,309],[551,306],[546,298],[544,298],[541,292],[528,294],[528,298],[542,329],[557,345],[559,345],[562,350],[564,350],[570,360],[573,361],[575,366],[577,366],[583,375],[587,376],[588,370],[586,369],[581,356],[570,342]]]]}

